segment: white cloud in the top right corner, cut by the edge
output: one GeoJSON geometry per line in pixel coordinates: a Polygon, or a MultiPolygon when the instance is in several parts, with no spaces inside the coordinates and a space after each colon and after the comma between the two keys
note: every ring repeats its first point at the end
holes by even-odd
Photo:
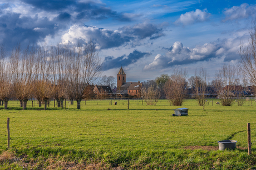
{"type": "Polygon", "coordinates": [[[225,8],[223,13],[226,16],[223,20],[224,22],[227,20],[253,17],[256,14],[256,6],[253,4],[249,6],[249,4],[243,3],[239,7],[225,8]]]}

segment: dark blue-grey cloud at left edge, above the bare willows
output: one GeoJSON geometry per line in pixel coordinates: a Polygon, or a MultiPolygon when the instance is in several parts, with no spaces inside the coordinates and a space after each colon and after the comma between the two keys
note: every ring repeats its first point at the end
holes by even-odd
{"type": "Polygon", "coordinates": [[[21,17],[18,13],[7,13],[0,17],[1,43],[11,50],[17,43],[37,43],[46,35],[54,35],[59,28],[47,18],[21,17]]]}

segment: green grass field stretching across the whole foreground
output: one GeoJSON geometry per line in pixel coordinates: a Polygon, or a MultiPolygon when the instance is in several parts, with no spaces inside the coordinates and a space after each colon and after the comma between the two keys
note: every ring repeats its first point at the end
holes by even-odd
{"type": "MultiPolygon", "coordinates": [[[[32,107],[21,110],[9,101],[0,106],[1,169],[250,169],[256,168],[256,102],[248,106],[215,105],[211,99],[198,106],[186,100],[170,106],[159,100],[147,106],[142,100],[66,102],[66,110],[32,107]],[[114,105],[117,101],[117,105],[114,105]],[[124,104],[124,105],[123,105],[124,104]],[[172,109],[189,108],[189,116],[171,116],[172,109]],[[107,110],[110,109],[110,110],[107,110]],[[11,143],[7,150],[7,117],[11,143]],[[247,123],[252,128],[248,156],[247,123]],[[220,140],[237,140],[237,150],[216,151],[220,140]],[[208,150],[188,149],[190,146],[208,150]]],[[[56,105],[57,106],[57,105],[56,105]]]]}

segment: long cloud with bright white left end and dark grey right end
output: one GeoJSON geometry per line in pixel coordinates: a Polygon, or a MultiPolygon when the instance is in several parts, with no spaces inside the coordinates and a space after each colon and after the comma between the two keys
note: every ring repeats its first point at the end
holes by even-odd
{"type": "Polygon", "coordinates": [[[132,46],[136,47],[136,45],[139,45],[137,42],[142,39],[156,39],[162,36],[164,36],[163,29],[150,23],[126,26],[118,30],[109,30],[88,25],[84,25],[83,27],[74,26],[66,34],[66,37],[72,37],[69,39],[70,42],[76,42],[78,39],[81,40],[81,37],[86,42],[93,40],[93,42],[97,43],[98,49],[120,47],[127,43],[132,43],[132,46]]]}

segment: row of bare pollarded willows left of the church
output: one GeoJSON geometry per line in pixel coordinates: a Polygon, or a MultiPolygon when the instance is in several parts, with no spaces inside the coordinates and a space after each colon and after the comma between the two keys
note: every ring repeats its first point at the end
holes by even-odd
{"type": "Polygon", "coordinates": [[[101,73],[101,61],[92,42],[82,45],[42,47],[28,45],[13,48],[8,56],[0,47],[0,100],[4,108],[9,99],[18,99],[23,109],[29,99],[36,98],[39,106],[51,98],[63,107],[63,100],[80,102],[86,98],[86,87],[101,73]]]}

